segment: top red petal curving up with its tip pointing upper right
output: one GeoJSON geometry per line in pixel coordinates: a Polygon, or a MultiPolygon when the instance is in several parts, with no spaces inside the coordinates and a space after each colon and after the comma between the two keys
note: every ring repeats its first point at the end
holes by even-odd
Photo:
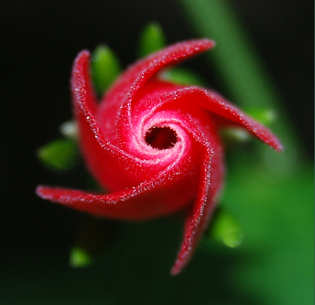
{"type": "Polygon", "coordinates": [[[144,85],[161,69],[177,65],[212,48],[209,39],[184,41],[152,54],[129,67],[104,96],[99,117],[107,117],[108,137],[117,145],[124,142],[120,136],[132,132],[131,104],[144,85]],[[118,117],[117,117],[118,114],[118,117]],[[126,132],[127,130],[127,132],[126,132]],[[124,132],[123,132],[124,131],[124,132]],[[118,140],[118,142],[116,142],[118,140]]]}

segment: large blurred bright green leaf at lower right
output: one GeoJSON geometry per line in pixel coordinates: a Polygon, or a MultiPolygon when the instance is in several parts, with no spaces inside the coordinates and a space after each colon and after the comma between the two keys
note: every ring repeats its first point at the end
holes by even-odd
{"type": "Polygon", "coordinates": [[[246,236],[243,263],[233,271],[235,288],[262,304],[313,304],[313,167],[277,176],[244,160],[232,163],[224,195],[246,236]]]}

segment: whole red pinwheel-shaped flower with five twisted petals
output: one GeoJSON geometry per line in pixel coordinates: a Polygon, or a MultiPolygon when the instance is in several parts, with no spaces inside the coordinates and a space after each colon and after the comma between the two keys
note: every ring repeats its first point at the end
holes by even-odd
{"type": "Polygon", "coordinates": [[[214,91],[163,81],[160,72],[214,46],[207,39],[177,43],[136,62],[100,103],[81,52],[72,72],[74,114],[87,166],[109,194],[39,186],[43,199],[93,215],[144,220],[187,210],[172,274],[192,256],[223,184],[222,125],[244,127],[275,150],[265,127],[214,91]]]}

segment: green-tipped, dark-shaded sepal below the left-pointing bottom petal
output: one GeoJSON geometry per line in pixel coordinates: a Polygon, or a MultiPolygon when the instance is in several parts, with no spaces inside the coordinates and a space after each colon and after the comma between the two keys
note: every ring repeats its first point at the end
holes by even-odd
{"type": "Polygon", "coordinates": [[[118,236],[116,221],[88,216],[70,251],[69,263],[74,268],[94,263],[118,236]]]}

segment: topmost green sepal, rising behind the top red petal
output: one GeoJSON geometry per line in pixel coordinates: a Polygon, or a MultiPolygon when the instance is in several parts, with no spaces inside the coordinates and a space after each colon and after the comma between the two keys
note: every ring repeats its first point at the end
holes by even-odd
{"type": "Polygon", "coordinates": [[[158,23],[149,23],[140,35],[138,56],[145,57],[163,49],[165,45],[166,39],[162,27],[158,23]]]}

